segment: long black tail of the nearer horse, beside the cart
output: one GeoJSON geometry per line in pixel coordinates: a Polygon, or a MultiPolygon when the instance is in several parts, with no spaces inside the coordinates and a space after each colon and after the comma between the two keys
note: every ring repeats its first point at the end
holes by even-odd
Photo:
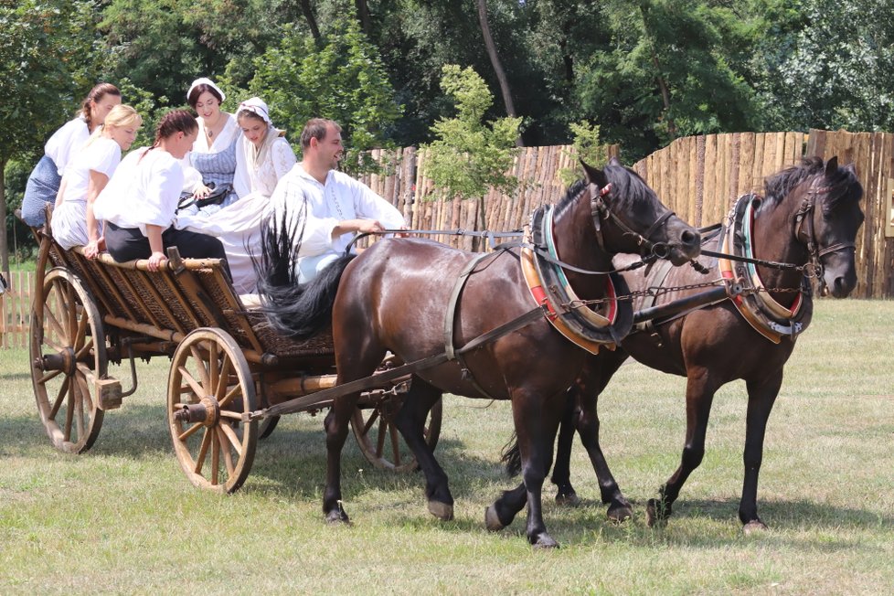
{"type": "Polygon", "coordinates": [[[307,205],[298,217],[282,209],[261,224],[261,256],[251,256],[258,278],[258,294],[267,321],[282,335],[306,339],[332,323],[332,305],[347,264],[356,255],[346,253],[307,283],[298,282],[298,254],[304,234],[307,205]]]}

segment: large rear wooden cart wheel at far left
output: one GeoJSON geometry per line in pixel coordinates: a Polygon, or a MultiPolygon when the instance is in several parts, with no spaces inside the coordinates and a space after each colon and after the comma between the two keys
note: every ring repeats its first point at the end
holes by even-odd
{"type": "Polygon", "coordinates": [[[85,452],[102,428],[97,381],[106,378],[108,360],[100,314],[80,279],[64,269],[47,273],[37,300],[29,347],[40,421],[59,451],[85,452]]]}

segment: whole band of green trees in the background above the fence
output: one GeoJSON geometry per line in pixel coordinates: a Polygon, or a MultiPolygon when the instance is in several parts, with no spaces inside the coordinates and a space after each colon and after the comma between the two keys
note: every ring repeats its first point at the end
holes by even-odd
{"type": "MultiPolygon", "coordinates": [[[[293,142],[338,121],[356,172],[369,147],[463,138],[443,65],[500,92],[478,5],[527,145],[584,121],[626,161],[686,134],[894,130],[889,0],[21,0],[0,4],[0,153],[33,163],[97,80],[137,104],[144,142],[209,76],[228,111],[268,101],[293,142]]],[[[501,122],[506,101],[477,113],[501,122]]]]}

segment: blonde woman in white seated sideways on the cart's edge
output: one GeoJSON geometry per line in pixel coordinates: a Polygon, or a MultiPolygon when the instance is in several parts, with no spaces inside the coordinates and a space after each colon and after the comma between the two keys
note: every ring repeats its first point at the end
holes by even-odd
{"type": "Polygon", "coordinates": [[[93,203],[121,162],[122,151],[130,149],[142,123],[131,106],[116,105],[69,163],[53,209],[53,238],[63,249],[83,246],[89,259],[100,253],[101,233],[93,217],[93,203]]]}

